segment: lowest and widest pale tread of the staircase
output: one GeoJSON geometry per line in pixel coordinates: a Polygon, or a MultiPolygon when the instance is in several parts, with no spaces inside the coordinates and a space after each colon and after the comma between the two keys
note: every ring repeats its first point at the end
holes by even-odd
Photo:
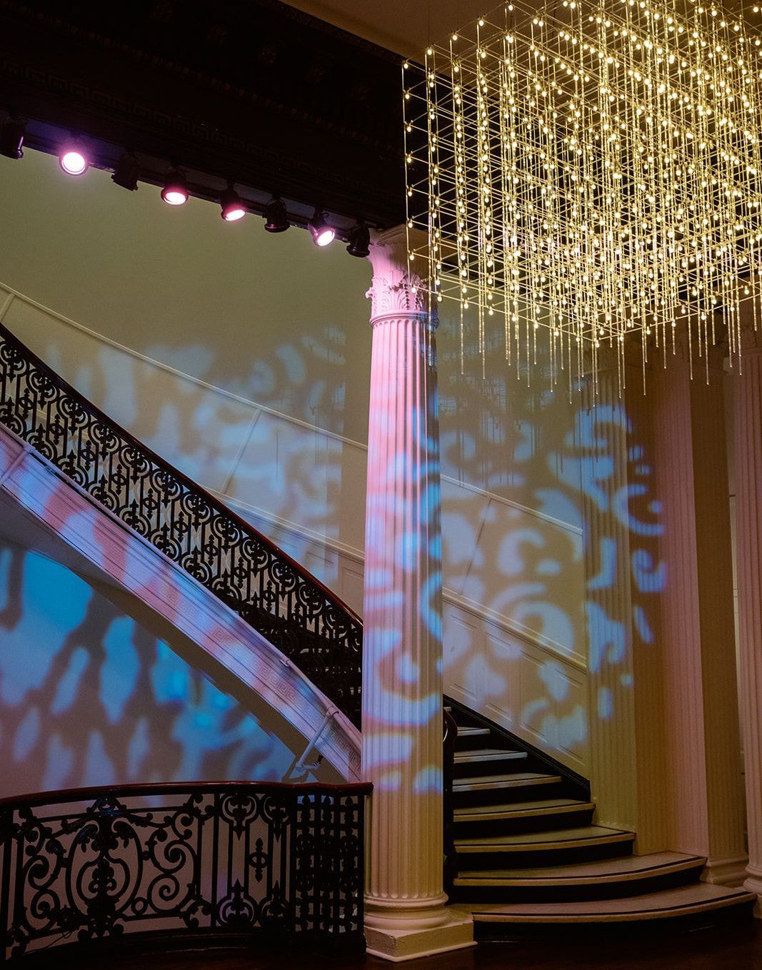
{"type": "Polygon", "coordinates": [[[629,922],[690,916],[742,903],[751,904],[755,900],[756,895],[745,889],[694,883],[624,899],[564,903],[473,903],[458,904],[457,908],[473,914],[475,920],[485,922],[629,922]]]}

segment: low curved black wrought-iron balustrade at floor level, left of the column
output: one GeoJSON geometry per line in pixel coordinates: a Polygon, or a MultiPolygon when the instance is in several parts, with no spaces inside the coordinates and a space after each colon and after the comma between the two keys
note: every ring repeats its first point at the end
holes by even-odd
{"type": "Polygon", "coordinates": [[[191,783],[6,799],[0,963],[149,931],[362,952],[370,790],[191,783]]]}

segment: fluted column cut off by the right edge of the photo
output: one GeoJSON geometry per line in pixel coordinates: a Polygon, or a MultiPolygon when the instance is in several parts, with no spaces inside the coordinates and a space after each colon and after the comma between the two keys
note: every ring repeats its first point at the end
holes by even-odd
{"type": "Polygon", "coordinates": [[[748,323],[742,372],[735,376],[736,556],[748,833],[744,885],[762,900],[762,333],[748,323]]]}

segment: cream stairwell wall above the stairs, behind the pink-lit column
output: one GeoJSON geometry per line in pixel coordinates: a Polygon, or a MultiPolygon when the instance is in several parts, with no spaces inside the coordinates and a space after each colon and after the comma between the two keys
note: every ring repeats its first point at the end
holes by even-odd
{"type": "MultiPolygon", "coordinates": [[[[0,212],[7,326],[359,610],[370,267],[33,152],[0,212]]],[[[447,689],[583,771],[580,404],[464,338],[443,314],[447,689]]]]}

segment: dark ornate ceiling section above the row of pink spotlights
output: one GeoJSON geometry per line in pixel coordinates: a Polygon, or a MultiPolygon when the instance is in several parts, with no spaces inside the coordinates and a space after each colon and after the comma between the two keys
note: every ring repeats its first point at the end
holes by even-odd
{"type": "Polygon", "coordinates": [[[109,168],[171,165],[216,198],[228,179],[256,209],[404,219],[400,57],[276,0],[0,0],[0,120],[27,146],[81,135],[109,168]]]}

